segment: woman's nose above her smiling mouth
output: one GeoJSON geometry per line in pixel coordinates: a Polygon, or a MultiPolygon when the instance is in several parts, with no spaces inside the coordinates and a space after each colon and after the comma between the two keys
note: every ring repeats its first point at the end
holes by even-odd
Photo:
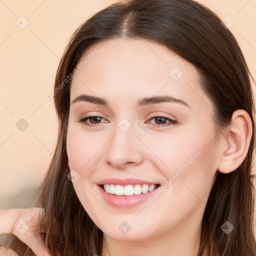
{"type": "Polygon", "coordinates": [[[143,160],[143,145],[133,133],[132,126],[127,131],[123,131],[117,126],[107,145],[106,162],[116,169],[135,166],[143,160]]]}

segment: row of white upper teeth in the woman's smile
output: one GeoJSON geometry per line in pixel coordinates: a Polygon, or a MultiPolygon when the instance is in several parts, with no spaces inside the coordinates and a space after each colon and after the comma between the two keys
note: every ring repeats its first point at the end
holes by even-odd
{"type": "Polygon", "coordinates": [[[143,184],[142,186],[139,184],[136,185],[113,185],[113,184],[104,184],[104,190],[110,194],[116,195],[133,195],[133,194],[141,194],[152,191],[156,187],[156,184],[143,184]]]}

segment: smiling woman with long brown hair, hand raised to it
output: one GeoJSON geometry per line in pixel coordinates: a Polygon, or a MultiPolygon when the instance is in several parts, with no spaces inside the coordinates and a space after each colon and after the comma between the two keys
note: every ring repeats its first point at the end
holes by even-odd
{"type": "Polygon", "coordinates": [[[48,94],[55,153],[34,208],[2,224],[23,241],[7,237],[9,248],[256,255],[250,77],[233,35],[195,1],[132,0],[94,14],[61,58],[48,94]]]}

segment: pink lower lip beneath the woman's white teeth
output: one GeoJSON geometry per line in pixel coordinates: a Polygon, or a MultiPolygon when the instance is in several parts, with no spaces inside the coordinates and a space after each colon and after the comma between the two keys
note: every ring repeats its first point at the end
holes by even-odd
{"type": "Polygon", "coordinates": [[[134,195],[115,195],[107,193],[102,186],[98,186],[102,197],[104,200],[110,204],[111,206],[118,207],[118,208],[130,208],[136,206],[148,199],[148,197],[155,193],[155,189],[147,193],[141,194],[134,194],[134,195]]]}

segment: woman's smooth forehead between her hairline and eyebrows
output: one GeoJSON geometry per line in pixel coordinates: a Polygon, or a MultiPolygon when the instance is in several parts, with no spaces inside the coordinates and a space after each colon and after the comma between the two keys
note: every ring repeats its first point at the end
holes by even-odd
{"type": "Polygon", "coordinates": [[[119,99],[122,103],[166,94],[197,107],[211,105],[199,86],[196,68],[157,42],[106,40],[87,48],[77,64],[78,73],[71,81],[71,101],[79,94],[95,94],[110,102],[119,99]]]}

